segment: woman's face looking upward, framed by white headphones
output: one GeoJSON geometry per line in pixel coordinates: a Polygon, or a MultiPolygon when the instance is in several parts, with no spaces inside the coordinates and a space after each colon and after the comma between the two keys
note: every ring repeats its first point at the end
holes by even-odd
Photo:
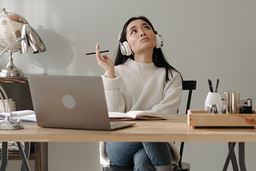
{"type": "Polygon", "coordinates": [[[141,53],[143,50],[154,50],[156,46],[154,30],[141,19],[134,20],[127,26],[126,40],[134,54],[141,53]]]}

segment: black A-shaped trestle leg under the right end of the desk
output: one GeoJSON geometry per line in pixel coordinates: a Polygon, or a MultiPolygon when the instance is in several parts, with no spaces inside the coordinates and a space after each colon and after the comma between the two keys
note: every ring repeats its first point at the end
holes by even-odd
{"type": "Polygon", "coordinates": [[[238,162],[236,160],[235,153],[234,153],[235,144],[236,144],[236,142],[229,142],[229,153],[226,157],[226,162],[224,164],[224,167],[223,167],[222,171],[226,171],[226,169],[227,169],[227,167],[230,163],[230,160],[231,160],[231,163],[232,163],[232,166],[233,166],[233,170],[238,171],[238,162]]]}

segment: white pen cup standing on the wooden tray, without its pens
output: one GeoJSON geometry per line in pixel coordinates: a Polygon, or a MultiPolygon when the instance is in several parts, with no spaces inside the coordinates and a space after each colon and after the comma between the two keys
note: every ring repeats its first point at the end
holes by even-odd
{"type": "Polygon", "coordinates": [[[222,97],[219,93],[209,92],[205,101],[206,113],[222,113],[222,97]]]}

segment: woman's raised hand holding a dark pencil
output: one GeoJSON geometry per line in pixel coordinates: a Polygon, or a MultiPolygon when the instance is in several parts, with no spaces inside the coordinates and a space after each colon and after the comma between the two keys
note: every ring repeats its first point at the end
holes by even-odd
{"type": "Polygon", "coordinates": [[[96,58],[98,61],[98,65],[102,66],[104,70],[106,70],[106,77],[107,78],[115,78],[114,76],[114,62],[108,58],[106,55],[101,56],[99,52],[99,45],[96,45],[96,58]]]}

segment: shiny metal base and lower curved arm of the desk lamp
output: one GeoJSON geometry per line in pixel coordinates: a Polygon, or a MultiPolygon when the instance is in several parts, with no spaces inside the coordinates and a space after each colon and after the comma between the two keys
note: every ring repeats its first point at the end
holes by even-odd
{"type": "MultiPolygon", "coordinates": [[[[10,101],[9,98],[7,97],[5,89],[2,88],[2,85],[0,85],[0,97],[2,99],[2,107],[4,113],[10,113],[10,101]],[[6,108],[6,103],[4,102],[4,97],[6,98],[8,108],[6,108]]],[[[11,117],[11,114],[10,114],[11,117]]],[[[14,121],[10,118],[9,116],[6,116],[5,120],[0,121],[0,129],[5,129],[5,130],[11,130],[11,129],[24,129],[24,126],[21,124],[21,120],[18,119],[17,121],[14,121]]]]}

